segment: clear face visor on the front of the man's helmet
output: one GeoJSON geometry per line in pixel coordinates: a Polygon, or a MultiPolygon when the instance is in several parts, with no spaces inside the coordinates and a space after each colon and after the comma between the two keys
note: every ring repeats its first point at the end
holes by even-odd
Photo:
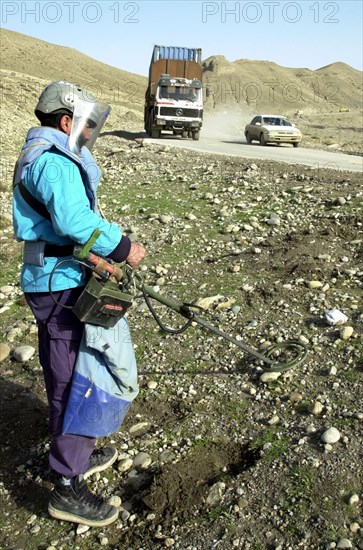
{"type": "Polygon", "coordinates": [[[72,153],[80,153],[82,147],[90,151],[110,114],[107,103],[79,99],[75,102],[72,129],[69,135],[69,148],[72,153]]]}

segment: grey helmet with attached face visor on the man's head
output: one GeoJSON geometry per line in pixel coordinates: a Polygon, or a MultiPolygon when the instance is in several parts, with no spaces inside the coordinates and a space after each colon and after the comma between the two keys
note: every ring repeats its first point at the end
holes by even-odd
{"type": "Polygon", "coordinates": [[[42,114],[64,113],[72,117],[69,148],[74,153],[79,153],[83,145],[92,149],[110,111],[111,107],[106,103],[98,102],[83,88],[63,80],[48,84],[35,107],[39,120],[42,114]],[[82,137],[85,128],[89,134],[87,140],[82,137]]]}

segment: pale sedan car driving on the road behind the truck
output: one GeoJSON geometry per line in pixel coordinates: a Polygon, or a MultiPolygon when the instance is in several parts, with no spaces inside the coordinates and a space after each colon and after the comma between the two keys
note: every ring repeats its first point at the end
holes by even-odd
{"type": "Polygon", "coordinates": [[[261,145],[267,143],[292,143],[298,147],[302,134],[294,124],[280,115],[257,115],[245,127],[247,143],[259,141],[261,145]]]}

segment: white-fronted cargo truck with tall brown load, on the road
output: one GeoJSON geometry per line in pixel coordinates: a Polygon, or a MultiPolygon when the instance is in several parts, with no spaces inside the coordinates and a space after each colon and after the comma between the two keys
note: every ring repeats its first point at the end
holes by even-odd
{"type": "Polygon", "coordinates": [[[145,94],[146,133],[199,140],[203,122],[202,50],[154,46],[145,94]]]}

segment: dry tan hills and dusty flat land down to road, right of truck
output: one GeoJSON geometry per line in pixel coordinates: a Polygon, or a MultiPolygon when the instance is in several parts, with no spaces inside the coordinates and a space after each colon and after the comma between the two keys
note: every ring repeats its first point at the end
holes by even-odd
{"type": "Polygon", "coordinates": [[[361,71],[340,62],[311,71],[221,55],[203,68],[206,113],[223,111],[226,127],[237,131],[261,112],[284,114],[303,131],[307,147],[362,152],[361,71]]]}

